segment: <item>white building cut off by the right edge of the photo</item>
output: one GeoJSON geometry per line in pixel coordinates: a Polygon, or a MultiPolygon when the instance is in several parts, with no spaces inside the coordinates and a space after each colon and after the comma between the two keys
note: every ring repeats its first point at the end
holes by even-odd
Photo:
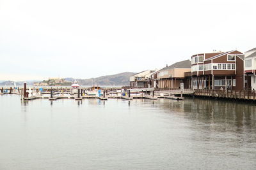
{"type": "Polygon", "coordinates": [[[256,89],[256,48],[244,53],[245,88],[256,89]]]}

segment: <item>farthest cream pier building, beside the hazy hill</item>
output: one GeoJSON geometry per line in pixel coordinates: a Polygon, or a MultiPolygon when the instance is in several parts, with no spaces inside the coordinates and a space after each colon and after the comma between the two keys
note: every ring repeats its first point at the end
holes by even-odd
{"type": "Polygon", "coordinates": [[[150,73],[154,73],[155,71],[156,70],[146,70],[130,76],[130,87],[148,87],[148,79],[150,78],[150,73]]]}

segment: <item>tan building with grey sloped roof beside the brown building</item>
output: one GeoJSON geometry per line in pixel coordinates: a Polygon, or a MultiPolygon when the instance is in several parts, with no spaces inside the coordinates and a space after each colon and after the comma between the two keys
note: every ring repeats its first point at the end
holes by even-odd
{"type": "Polygon", "coordinates": [[[180,89],[180,83],[184,83],[184,88],[188,89],[190,77],[186,77],[185,73],[190,71],[190,60],[183,60],[164,67],[157,72],[158,88],[180,89]]]}

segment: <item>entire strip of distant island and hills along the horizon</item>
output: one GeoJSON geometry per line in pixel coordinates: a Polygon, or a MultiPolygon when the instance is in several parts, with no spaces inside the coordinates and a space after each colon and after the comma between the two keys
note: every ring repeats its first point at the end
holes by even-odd
{"type": "MultiPolygon", "coordinates": [[[[88,79],[80,79],[80,78],[49,78],[48,80],[35,81],[29,80],[27,81],[28,85],[34,86],[70,86],[76,80],[79,85],[83,86],[127,86],[129,85],[129,77],[136,73],[132,72],[124,72],[119,74],[113,74],[108,76],[100,76],[97,78],[88,78],[88,79]]],[[[13,86],[15,81],[0,81],[0,85],[8,85],[13,86]]],[[[24,81],[17,81],[16,85],[23,85],[24,81]]]]}

